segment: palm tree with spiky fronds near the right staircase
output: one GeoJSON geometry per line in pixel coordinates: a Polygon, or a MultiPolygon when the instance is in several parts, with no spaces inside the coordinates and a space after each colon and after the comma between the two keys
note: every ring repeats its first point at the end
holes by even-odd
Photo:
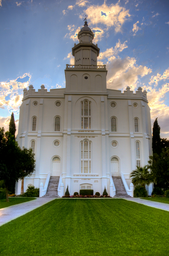
{"type": "Polygon", "coordinates": [[[152,175],[148,171],[148,166],[145,165],[144,167],[136,166],[137,168],[133,170],[130,174],[130,178],[132,178],[132,183],[134,185],[149,185],[153,179],[152,175]]]}

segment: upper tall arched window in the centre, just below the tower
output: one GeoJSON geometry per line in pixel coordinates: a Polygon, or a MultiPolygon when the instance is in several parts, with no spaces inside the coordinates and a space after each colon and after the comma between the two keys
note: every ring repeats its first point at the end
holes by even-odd
{"type": "Polygon", "coordinates": [[[81,128],[91,129],[91,102],[88,100],[81,103],[81,128]]]}

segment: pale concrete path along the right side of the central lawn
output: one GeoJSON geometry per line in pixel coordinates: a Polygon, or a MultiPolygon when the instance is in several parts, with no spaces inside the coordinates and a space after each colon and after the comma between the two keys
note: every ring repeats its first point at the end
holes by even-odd
{"type": "Polygon", "coordinates": [[[144,200],[140,198],[123,198],[128,201],[144,204],[145,206],[154,207],[157,209],[169,211],[169,203],[159,203],[155,201],[144,200]]]}

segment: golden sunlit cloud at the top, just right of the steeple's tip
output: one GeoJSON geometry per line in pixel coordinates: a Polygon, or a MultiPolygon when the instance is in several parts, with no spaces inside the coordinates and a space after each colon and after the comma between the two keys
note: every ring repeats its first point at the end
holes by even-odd
{"type": "Polygon", "coordinates": [[[87,20],[90,20],[92,24],[102,23],[106,25],[106,28],[115,27],[116,32],[121,31],[121,27],[125,21],[131,16],[129,10],[121,7],[119,2],[115,5],[106,5],[104,2],[102,5],[91,5],[86,10],[84,10],[83,15],[81,14],[79,18],[83,19],[84,15],[87,14],[87,20]]]}

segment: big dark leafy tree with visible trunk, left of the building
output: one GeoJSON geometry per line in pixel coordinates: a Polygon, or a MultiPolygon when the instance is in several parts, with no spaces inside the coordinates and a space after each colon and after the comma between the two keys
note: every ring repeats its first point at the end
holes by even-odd
{"type": "Polygon", "coordinates": [[[8,202],[8,188],[12,183],[30,176],[35,168],[32,149],[21,149],[15,141],[14,135],[0,128],[0,180],[4,181],[6,201],[8,202]]]}

